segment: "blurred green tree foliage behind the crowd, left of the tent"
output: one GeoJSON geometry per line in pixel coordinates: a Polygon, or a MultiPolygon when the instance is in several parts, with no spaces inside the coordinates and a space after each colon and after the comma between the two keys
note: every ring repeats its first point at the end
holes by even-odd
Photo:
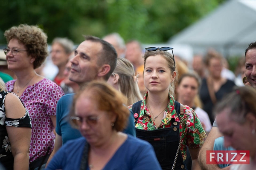
{"type": "Polygon", "coordinates": [[[3,33],[21,23],[38,25],[48,35],[103,37],[118,32],[125,40],[166,42],[225,0],[3,0],[0,3],[0,43],[3,33]]]}

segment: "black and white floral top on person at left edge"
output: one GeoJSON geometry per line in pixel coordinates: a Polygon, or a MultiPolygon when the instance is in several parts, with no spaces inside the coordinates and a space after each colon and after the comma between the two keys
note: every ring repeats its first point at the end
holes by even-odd
{"type": "MultiPolygon", "coordinates": [[[[11,144],[6,131],[6,126],[32,128],[29,112],[26,111],[22,118],[6,118],[4,101],[10,92],[0,92],[0,162],[7,168],[13,169],[14,158],[12,156],[11,144]]],[[[15,94],[15,93],[14,93],[15,94]]]]}

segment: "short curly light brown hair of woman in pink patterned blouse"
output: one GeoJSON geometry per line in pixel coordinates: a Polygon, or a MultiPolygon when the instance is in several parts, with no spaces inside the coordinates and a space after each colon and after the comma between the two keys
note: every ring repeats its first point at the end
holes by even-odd
{"type": "Polygon", "coordinates": [[[4,36],[7,43],[14,38],[26,46],[28,55],[35,58],[34,69],[41,66],[48,56],[47,35],[38,26],[29,26],[27,24],[13,26],[4,32],[4,36]]]}

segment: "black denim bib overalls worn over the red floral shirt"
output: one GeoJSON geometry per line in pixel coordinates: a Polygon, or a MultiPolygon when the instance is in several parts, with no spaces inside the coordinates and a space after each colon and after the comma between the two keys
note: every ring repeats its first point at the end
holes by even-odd
{"type": "MultiPolygon", "coordinates": [[[[141,101],[138,101],[135,104],[137,104],[139,108],[137,108],[137,106],[134,106],[132,110],[134,109],[134,113],[139,114],[141,101]],[[135,107],[137,109],[135,109],[135,107]]],[[[178,117],[180,118],[180,103],[176,101],[175,110],[178,117]]],[[[138,118],[135,119],[135,124],[137,123],[137,120],[138,118]]],[[[171,127],[157,130],[140,130],[136,128],[137,138],[148,141],[154,147],[157,159],[163,170],[172,170],[175,155],[177,153],[180,142],[180,122],[176,122],[175,119],[172,118],[171,124],[171,127]]],[[[175,170],[186,170],[186,165],[183,163],[183,158],[180,150],[177,156],[175,170]]]]}

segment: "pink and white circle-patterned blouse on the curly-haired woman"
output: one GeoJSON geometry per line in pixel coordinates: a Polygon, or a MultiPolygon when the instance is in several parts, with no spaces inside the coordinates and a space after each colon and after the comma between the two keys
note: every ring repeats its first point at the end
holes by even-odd
{"type": "MultiPolygon", "coordinates": [[[[8,81],[6,88],[13,90],[16,80],[8,81]]],[[[32,136],[29,147],[29,162],[52,153],[55,135],[50,116],[56,115],[58,100],[64,95],[60,86],[47,78],[28,86],[20,96],[29,111],[32,122],[32,136]],[[48,153],[47,153],[48,151],[48,153]]]]}

